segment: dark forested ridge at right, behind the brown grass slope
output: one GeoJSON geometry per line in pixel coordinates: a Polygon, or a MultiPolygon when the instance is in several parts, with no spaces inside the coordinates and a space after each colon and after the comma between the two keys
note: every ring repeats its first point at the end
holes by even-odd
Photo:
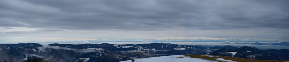
{"type": "Polygon", "coordinates": [[[255,47],[240,47],[238,49],[219,49],[214,52],[209,53],[208,55],[222,55],[222,56],[232,56],[240,57],[246,59],[260,59],[260,60],[289,60],[288,49],[269,49],[269,50],[260,50],[255,47]],[[235,54],[233,54],[234,52],[235,54]],[[274,53],[275,52],[275,53],[274,53]]]}

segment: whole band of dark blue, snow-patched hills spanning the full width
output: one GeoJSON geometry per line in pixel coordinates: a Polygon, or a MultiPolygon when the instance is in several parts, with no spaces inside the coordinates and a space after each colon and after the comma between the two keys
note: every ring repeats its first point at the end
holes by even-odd
{"type": "Polygon", "coordinates": [[[186,55],[186,54],[209,54],[232,56],[249,59],[271,59],[271,60],[289,60],[288,49],[282,50],[259,50],[254,47],[209,47],[201,45],[177,45],[166,43],[151,44],[49,44],[40,45],[38,43],[19,43],[19,44],[0,44],[0,60],[13,59],[14,62],[32,58],[43,58],[56,62],[97,62],[108,61],[117,62],[130,59],[139,59],[147,57],[158,57],[167,55],[186,55]],[[251,48],[251,49],[250,49],[251,48]],[[251,52],[251,53],[248,53],[251,52]],[[224,53],[224,54],[222,54],[224,53]],[[263,58],[259,58],[263,57],[263,58]],[[276,58],[278,57],[278,58],[276,58]]]}

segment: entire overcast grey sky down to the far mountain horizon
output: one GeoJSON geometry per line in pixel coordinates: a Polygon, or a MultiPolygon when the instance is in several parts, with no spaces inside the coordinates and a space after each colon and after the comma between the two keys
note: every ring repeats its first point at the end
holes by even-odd
{"type": "Polygon", "coordinates": [[[0,43],[289,40],[289,0],[1,0],[0,43]]]}

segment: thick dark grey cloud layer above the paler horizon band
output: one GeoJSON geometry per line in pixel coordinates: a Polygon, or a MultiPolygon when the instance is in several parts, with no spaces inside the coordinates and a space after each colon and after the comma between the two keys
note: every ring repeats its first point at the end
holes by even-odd
{"type": "Polygon", "coordinates": [[[4,0],[0,26],[60,30],[289,28],[288,0],[4,0]]]}

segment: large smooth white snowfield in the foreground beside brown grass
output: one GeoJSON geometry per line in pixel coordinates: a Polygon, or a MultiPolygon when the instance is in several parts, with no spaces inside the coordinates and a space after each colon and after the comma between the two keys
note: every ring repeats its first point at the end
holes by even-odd
{"type": "MultiPolygon", "coordinates": [[[[135,59],[134,62],[191,62],[191,61],[194,61],[194,62],[209,62],[211,60],[184,57],[183,55],[170,55],[170,56],[135,59]],[[183,58],[178,58],[178,57],[183,57],[183,58]]],[[[131,60],[120,61],[120,62],[131,62],[131,60]]]]}

